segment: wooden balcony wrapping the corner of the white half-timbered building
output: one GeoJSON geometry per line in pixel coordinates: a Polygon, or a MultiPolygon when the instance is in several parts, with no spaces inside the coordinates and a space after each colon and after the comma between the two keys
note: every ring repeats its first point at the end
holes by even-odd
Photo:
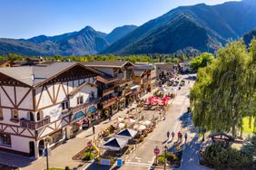
{"type": "Polygon", "coordinates": [[[26,119],[20,119],[20,127],[30,128],[35,130],[50,124],[50,122],[51,122],[50,117],[45,117],[43,120],[40,120],[37,122],[26,120],[26,119]]]}

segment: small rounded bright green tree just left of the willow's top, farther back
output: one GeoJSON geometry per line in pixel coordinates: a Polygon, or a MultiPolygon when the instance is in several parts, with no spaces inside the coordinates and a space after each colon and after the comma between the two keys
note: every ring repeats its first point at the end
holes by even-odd
{"type": "Polygon", "coordinates": [[[192,71],[198,71],[199,68],[206,67],[207,64],[212,63],[214,56],[212,53],[204,52],[201,55],[195,57],[191,61],[192,71]]]}

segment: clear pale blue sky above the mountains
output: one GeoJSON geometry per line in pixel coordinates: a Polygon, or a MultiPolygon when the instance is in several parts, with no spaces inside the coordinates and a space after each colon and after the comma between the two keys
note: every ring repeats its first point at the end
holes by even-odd
{"type": "Polygon", "coordinates": [[[91,25],[110,33],[124,24],[141,25],[180,5],[229,0],[0,0],[0,38],[70,33],[91,25]]]}

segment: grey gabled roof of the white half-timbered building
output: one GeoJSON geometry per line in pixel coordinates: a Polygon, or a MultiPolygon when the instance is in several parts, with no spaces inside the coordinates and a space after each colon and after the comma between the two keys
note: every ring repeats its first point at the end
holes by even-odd
{"type": "Polygon", "coordinates": [[[51,64],[45,64],[44,66],[24,66],[24,67],[11,67],[0,68],[0,72],[25,83],[28,86],[36,87],[48,80],[54,79],[56,76],[62,74],[64,71],[68,71],[75,66],[81,66],[88,71],[93,71],[98,75],[102,75],[101,72],[95,71],[92,68],[85,67],[78,62],[53,62],[51,64]]]}

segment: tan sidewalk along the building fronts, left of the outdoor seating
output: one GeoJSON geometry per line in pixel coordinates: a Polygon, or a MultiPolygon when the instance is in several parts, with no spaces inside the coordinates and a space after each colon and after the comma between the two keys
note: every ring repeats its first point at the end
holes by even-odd
{"type": "MultiPolygon", "coordinates": [[[[142,99],[148,98],[151,95],[153,95],[153,92],[147,93],[145,96],[143,96],[142,99]]],[[[136,104],[133,103],[132,107],[135,108],[136,104]]],[[[84,149],[89,140],[94,139],[94,137],[97,137],[103,129],[112,125],[116,121],[116,118],[126,116],[126,112],[128,109],[130,108],[123,109],[123,111],[119,111],[114,114],[111,118],[111,121],[107,119],[99,123],[98,125],[95,125],[95,135],[93,134],[92,127],[90,127],[89,129],[84,130],[83,132],[78,134],[76,137],[67,140],[66,143],[64,143],[63,145],[56,147],[51,152],[51,156],[49,156],[50,167],[64,168],[64,166],[68,165],[70,168],[77,167],[78,169],[83,169],[83,167],[88,165],[88,163],[72,160],[72,157],[79,151],[84,149]]],[[[40,157],[37,160],[32,160],[29,157],[6,154],[5,152],[0,152],[0,157],[0,164],[14,165],[16,167],[21,167],[21,169],[24,170],[41,170],[46,167],[45,157],[40,157]]]]}

